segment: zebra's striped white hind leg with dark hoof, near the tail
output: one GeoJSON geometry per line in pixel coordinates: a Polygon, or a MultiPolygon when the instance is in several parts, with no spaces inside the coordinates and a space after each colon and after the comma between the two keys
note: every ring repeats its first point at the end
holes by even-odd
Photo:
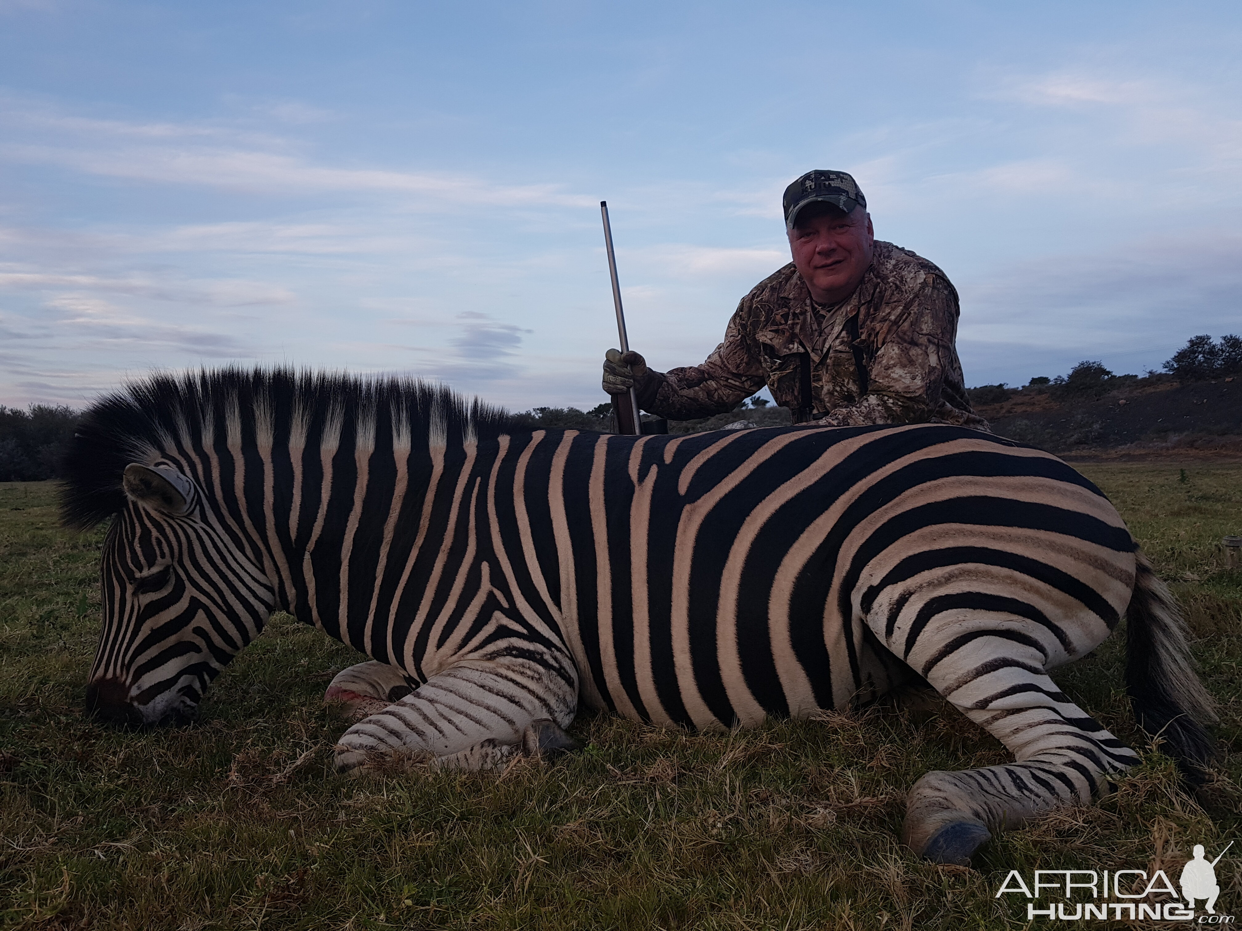
{"type": "MultiPolygon", "coordinates": [[[[929,859],[965,865],[992,830],[1089,803],[1109,773],[1138,755],[1048,678],[1045,667],[1057,648],[1048,631],[1052,644],[1020,621],[980,624],[960,613],[941,619],[923,631],[908,662],[1016,760],[929,772],[909,792],[903,840],[929,859]]],[[[894,633],[893,647],[904,647],[902,626],[894,633]]]]}

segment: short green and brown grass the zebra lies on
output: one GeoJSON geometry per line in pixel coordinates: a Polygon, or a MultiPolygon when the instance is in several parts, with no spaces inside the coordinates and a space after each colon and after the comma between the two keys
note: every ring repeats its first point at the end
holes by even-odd
{"type": "MultiPolygon", "coordinates": [[[[1242,777],[1242,466],[1082,467],[1186,607],[1222,709],[1197,797],[1135,731],[1120,639],[1058,672],[1144,749],[1099,806],[999,837],[976,869],[898,843],[933,768],[1004,761],[939,699],[696,735],[604,716],[586,749],[503,776],[337,777],[320,703],[353,650],[287,616],[220,677],[200,724],[127,734],[81,713],[102,530],[58,528],[48,483],[0,484],[0,926],[15,929],[1020,929],[1010,869],[1151,869],[1236,835],[1242,777]],[[1181,470],[1185,470],[1182,480],[1181,470]]],[[[1231,852],[1232,853],[1232,852],[1231,852]]],[[[1217,911],[1242,871],[1217,866],[1217,911]]],[[[1095,922],[1093,926],[1103,926],[1095,922]]]]}

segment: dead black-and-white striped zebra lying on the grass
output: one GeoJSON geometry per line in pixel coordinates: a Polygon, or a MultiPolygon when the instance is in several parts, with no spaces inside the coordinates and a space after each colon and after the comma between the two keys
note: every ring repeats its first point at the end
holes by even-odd
{"type": "Polygon", "coordinates": [[[112,521],[107,721],[193,720],[276,609],[370,657],[328,688],[359,719],[340,772],[563,752],[579,706],[727,731],[925,684],[1015,757],[909,791],[905,843],[964,864],[1136,761],[1047,673],[1125,617],[1136,720],[1187,773],[1211,758],[1184,624],[1120,516],[990,433],[515,430],[442,386],[224,369],[98,401],[66,472],[65,523],[112,521]]]}

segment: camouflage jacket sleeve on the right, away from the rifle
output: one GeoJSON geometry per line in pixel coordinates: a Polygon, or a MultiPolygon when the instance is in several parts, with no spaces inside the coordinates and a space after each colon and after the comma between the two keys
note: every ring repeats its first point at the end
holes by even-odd
{"type": "Polygon", "coordinates": [[[953,286],[939,276],[924,279],[893,308],[892,319],[877,322],[888,335],[866,360],[867,394],[833,408],[820,423],[857,427],[925,423],[935,417],[945,371],[956,358],[958,313],[953,286]]]}

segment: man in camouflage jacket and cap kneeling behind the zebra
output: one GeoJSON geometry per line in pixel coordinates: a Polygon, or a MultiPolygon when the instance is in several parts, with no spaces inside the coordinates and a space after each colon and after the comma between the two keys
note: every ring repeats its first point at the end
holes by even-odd
{"type": "Polygon", "coordinates": [[[733,410],[769,387],[794,423],[959,423],[970,407],[954,340],[958,292],[909,250],[877,242],[867,199],[843,171],[810,171],[784,197],[794,261],[738,304],[702,365],[657,372],[611,349],[604,390],[633,387],[671,420],[733,410]]]}

